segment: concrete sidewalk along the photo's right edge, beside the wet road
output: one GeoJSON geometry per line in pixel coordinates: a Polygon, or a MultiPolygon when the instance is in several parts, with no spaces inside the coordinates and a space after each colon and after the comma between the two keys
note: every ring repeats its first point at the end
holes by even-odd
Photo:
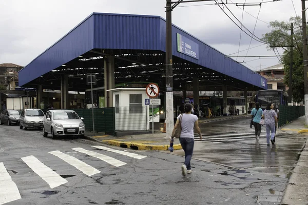
{"type": "MultiPolygon", "coordinates": [[[[307,135],[305,128],[305,117],[302,116],[288,125],[283,126],[281,131],[307,135]]],[[[298,162],[295,165],[293,173],[288,181],[281,204],[284,205],[307,205],[308,204],[308,147],[306,142],[301,153],[298,154],[298,162]]]]}

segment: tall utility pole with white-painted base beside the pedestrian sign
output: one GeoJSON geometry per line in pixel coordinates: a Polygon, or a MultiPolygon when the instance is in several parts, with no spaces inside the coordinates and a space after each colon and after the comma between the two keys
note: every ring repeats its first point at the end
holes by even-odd
{"type": "Polygon", "coordinates": [[[173,74],[172,74],[172,3],[166,1],[166,137],[170,137],[174,128],[173,74]]]}

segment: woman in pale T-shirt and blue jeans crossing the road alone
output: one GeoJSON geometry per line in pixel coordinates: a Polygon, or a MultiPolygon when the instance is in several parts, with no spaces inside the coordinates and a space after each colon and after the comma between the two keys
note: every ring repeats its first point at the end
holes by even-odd
{"type": "MultiPolygon", "coordinates": [[[[178,116],[176,125],[174,130],[172,131],[172,135],[176,131],[178,126],[181,126],[181,135],[180,135],[180,143],[185,152],[185,162],[182,165],[182,175],[186,176],[186,174],[191,173],[190,160],[192,157],[192,152],[194,151],[194,128],[197,130],[200,139],[202,139],[201,131],[198,124],[198,117],[196,115],[191,114],[192,105],[185,104],[184,105],[185,114],[181,114],[178,116]],[[181,123],[181,125],[180,125],[181,123]]],[[[170,139],[173,141],[173,137],[170,139]]]]}

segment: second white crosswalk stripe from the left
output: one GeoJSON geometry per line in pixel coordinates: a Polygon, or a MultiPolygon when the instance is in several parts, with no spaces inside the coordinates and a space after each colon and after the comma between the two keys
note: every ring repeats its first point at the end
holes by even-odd
{"type": "Polygon", "coordinates": [[[44,181],[48,183],[51,189],[55,187],[59,187],[60,185],[64,185],[68,181],[62,178],[59,174],[55,173],[44,165],[43,162],[35,158],[34,156],[22,157],[22,160],[30,167],[33,172],[35,172],[38,176],[40,176],[44,181]]]}

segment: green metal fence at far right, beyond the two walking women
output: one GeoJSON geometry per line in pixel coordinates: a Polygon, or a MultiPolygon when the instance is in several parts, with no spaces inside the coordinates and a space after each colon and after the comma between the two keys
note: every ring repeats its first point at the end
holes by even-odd
{"type": "Polygon", "coordinates": [[[279,106],[278,127],[305,115],[304,106],[279,106]]]}

